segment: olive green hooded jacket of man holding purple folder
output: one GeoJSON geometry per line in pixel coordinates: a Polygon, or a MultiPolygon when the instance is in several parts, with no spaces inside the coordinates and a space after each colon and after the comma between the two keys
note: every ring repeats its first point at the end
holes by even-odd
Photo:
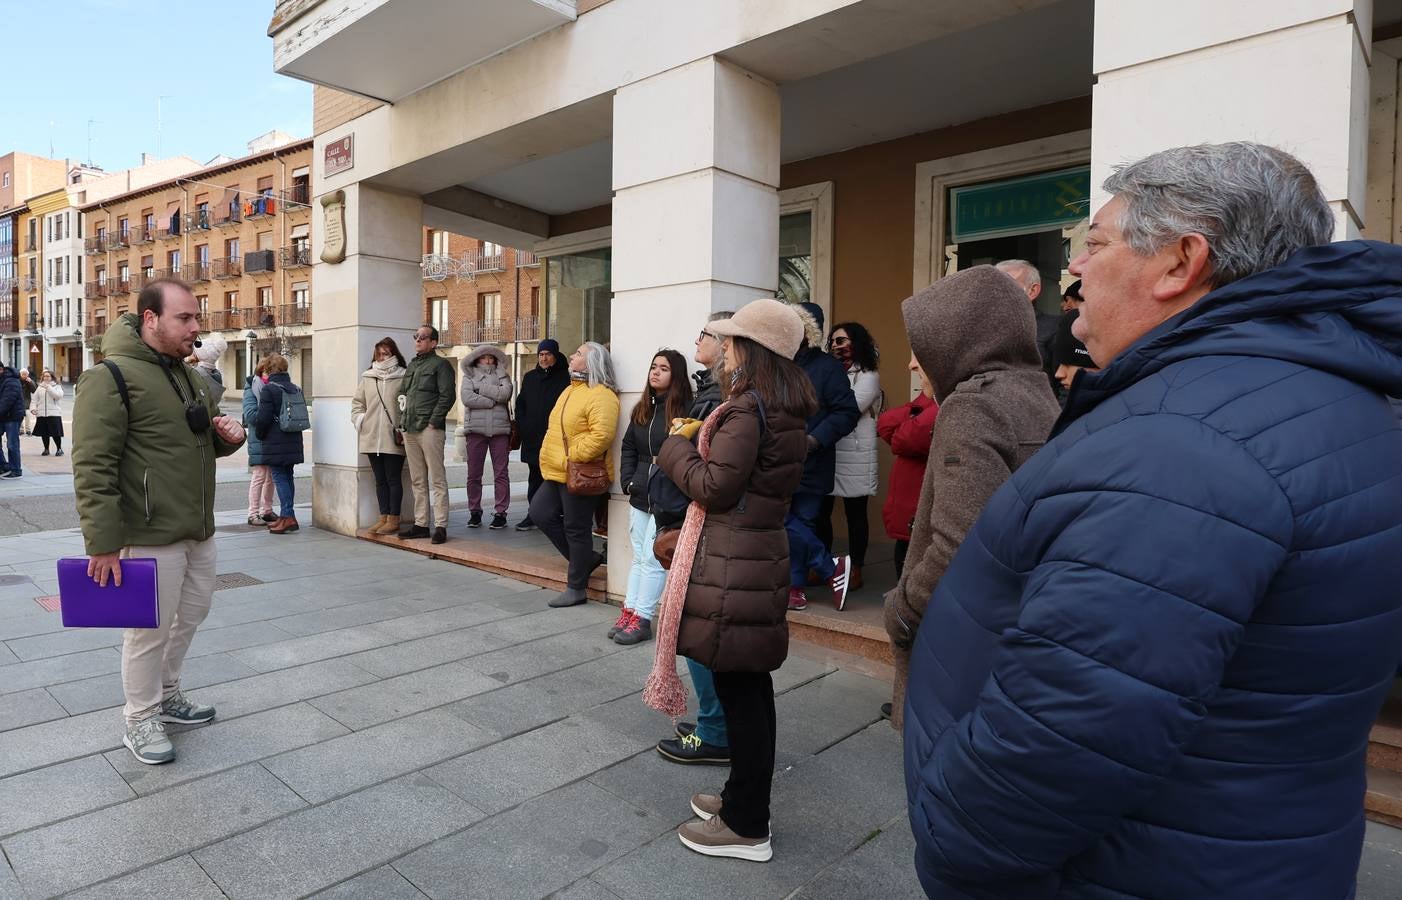
{"type": "MultiPolygon", "coordinates": [[[[130,415],[107,366],[79,379],[73,401],[73,489],[88,554],[123,547],[158,547],[215,534],[215,457],[231,444],[213,426],[195,435],[185,401],[175,394],[140,338],[136,315],[116,320],[102,336],[102,355],[126,380],[130,415]]],[[[195,370],[167,357],[175,384],[219,415],[207,384],[195,370]]]]}

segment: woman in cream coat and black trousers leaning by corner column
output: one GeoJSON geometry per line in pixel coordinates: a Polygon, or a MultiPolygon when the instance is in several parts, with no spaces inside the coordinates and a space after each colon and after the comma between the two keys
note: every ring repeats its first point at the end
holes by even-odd
{"type": "Polygon", "coordinates": [[[394,338],[381,338],[374,345],[370,367],[360,376],[360,384],[350,400],[350,422],[355,425],[360,453],[370,458],[374,472],[374,496],[380,503],[380,520],[370,526],[370,534],[397,534],[400,509],[404,506],[404,444],[400,443],[400,381],[404,380],[404,353],[394,338]]]}

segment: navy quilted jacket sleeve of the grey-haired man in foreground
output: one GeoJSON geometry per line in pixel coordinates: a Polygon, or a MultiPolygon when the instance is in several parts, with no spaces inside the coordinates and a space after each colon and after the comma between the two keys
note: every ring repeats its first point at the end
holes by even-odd
{"type": "Polygon", "coordinates": [[[1057,872],[1152,795],[1293,540],[1274,478],[1185,416],[1087,435],[1036,484],[1025,521],[969,536],[1028,578],[977,702],[911,784],[923,862],[966,882],[1057,872]]]}

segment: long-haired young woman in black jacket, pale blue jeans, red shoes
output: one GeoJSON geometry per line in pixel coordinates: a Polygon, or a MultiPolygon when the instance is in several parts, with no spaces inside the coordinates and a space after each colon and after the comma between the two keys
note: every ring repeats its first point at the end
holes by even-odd
{"type": "Polygon", "coordinates": [[[628,593],[622,613],[608,629],[615,643],[631,645],[652,638],[652,618],[662,597],[666,569],[652,552],[658,538],[658,520],[652,514],[648,486],[656,465],[653,463],[662,442],[667,439],[673,419],[684,419],[691,412],[691,381],[687,379],[687,357],[663,349],[648,366],[648,390],[632,407],[628,430],[622,435],[618,477],[628,495],[632,538],[632,566],[628,569],[628,593]]]}

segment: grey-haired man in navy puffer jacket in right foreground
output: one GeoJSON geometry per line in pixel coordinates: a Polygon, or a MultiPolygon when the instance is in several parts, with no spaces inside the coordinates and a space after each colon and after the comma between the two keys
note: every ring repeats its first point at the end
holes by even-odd
{"type": "Polygon", "coordinates": [[[1402,655],[1402,248],[1309,171],[1168,150],[1071,272],[1082,373],[920,627],[932,897],[1345,900],[1402,655]]]}

